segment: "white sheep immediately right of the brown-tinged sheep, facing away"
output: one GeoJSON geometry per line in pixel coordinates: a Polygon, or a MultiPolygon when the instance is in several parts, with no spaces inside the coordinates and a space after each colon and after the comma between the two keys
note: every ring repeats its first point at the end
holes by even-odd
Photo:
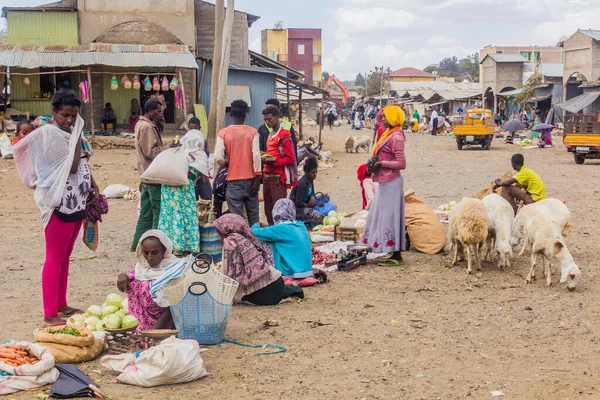
{"type": "Polygon", "coordinates": [[[510,203],[496,193],[485,196],[483,204],[490,220],[486,258],[493,262],[497,255],[498,268],[510,267],[513,255],[510,236],[515,212],[510,203]]]}

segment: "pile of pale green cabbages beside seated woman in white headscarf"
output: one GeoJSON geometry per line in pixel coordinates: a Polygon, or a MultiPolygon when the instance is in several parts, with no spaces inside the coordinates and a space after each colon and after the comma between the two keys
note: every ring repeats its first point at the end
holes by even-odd
{"type": "Polygon", "coordinates": [[[84,326],[90,331],[106,332],[105,329],[136,328],[138,321],[129,315],[129,302],[116,293],[106,296],[101,306],[89,306],[85,314],[75,314],[69,323],[84,326]]]}

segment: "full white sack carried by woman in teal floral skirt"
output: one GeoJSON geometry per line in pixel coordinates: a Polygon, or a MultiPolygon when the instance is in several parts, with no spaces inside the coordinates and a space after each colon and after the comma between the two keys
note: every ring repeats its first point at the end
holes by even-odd
{"type": "Polygon", "coordinates": [[[187,155],[181,147],[167,149],[156,156],[141,180],[155,185],[187,186],[188,169],[187,155]]]}

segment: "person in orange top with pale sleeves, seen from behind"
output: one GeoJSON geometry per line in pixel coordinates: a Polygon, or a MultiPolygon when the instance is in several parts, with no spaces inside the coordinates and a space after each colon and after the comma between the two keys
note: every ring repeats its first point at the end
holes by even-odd
{"type": "Polygon", "coordinates": [[[229,168],[227,173],[227,207],[229,212],[244,216],[244,207],[250,226],[258,223],[258,190],[260,189],[261,161],[258,131],[244,125],[248,103],[235,100],[229,115],[233,124],[217,134],[215,161],[229,168]]]}

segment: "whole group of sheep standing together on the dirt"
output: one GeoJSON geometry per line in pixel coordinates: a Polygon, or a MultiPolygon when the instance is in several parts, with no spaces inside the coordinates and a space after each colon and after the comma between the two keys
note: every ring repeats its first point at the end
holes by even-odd
{"type": "Polygon", "coordinates": [[[575,264],[565,243],[571,230],[571,213],[567,206],[557,199],[546,199],[524,206],[514,216],[512,206],[501,196],[492,193],[477,200],[464,198],[450,211],[450,249],[454,253],[452,265],[459,258],[464,260],[467,252],[467,273],[472,273],[471,259],[474,256],[476,268],[481,268],[484,246],[486,259],[494,262],[498,258],[498,267],[510,266],[513,246],[522,242],[519,255],[527,248],[531,249],[531,269],[527,283],[535,280],[535,268],[542,264],[542,274],[546,284],[552,285],[551,261],[556,257],[560,262],[560,283],[575,290],[581,277],[581,271],[575,264]]]}

